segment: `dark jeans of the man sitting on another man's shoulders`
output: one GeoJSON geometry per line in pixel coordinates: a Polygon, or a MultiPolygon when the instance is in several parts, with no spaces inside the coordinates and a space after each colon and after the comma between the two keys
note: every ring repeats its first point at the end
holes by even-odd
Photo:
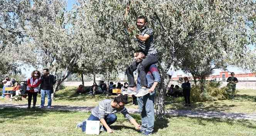
{"type": "Polygon", "coordinates": [[[133,72],[138,69],[138,74],[140,76],[141,86],[147,86],[146,72],[145,68],[158,62],[158,55],[147,55],[140,63],[134,61],[127,69],[126,75],[128,78],[128,83],[130,87],[135,86],[133,72]]]}

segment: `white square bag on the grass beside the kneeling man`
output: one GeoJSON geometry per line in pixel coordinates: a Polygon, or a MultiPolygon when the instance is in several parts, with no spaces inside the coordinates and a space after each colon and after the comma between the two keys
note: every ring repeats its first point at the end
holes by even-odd
{"type": "Polygon", "coordinates": [[[99,135],[99,121],[86,121],[86,130],[85,134],[98,134],[99,135]]]}

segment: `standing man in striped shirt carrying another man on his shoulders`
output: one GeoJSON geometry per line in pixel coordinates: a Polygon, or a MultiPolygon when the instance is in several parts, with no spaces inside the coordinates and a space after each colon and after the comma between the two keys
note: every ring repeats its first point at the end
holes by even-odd
{"type": "MultiPolygon", "coordinates": [[[[145,54],[142,51],[136,51],[134,53],[134,59],[136,62],[141,62],[145,58],[145,54]]],[[[147,90],[150,92],[144,95],[141,89],[140,75],[138,75],[136,92],[138,106],[141,113],[141,128],[140,132],[147,136],[153,133],[155,113],[154,113],[154,102],[155,102],[155,87],[160,82],[160,74],[158,72],[157,66],[152,64],[145,69],[147,78],[147,90]]]]}

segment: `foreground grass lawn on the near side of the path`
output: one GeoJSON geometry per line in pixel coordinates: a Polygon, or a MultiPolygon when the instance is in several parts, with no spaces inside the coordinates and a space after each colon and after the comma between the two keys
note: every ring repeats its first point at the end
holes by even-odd
{"type": "MultiPolygon", "coordinates": [[[[88,118],[90,113],[51,111],[42,109],[1,108],[0,136],[81,136],[76,124],[88,118]]],[[[122,114],[117,114],[111,125],[113,134],[101,136],[140,136],[122,114]]],[[[139,114],[132,116],[140,121],[139,114]]],[[[232,119],[202,119],[167,116],[155,121],[153,136],[256,136],[256,121],[232,119]]]]}

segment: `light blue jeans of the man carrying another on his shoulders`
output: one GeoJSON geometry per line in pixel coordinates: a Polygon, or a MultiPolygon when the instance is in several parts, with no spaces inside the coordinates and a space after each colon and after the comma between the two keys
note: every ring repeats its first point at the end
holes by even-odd
{"type": "Polygon", "coordinates": [[[141,113],[141,131],[153,132],[155,122],[155,91],[145,96],[137,97],[141,113]]]}

